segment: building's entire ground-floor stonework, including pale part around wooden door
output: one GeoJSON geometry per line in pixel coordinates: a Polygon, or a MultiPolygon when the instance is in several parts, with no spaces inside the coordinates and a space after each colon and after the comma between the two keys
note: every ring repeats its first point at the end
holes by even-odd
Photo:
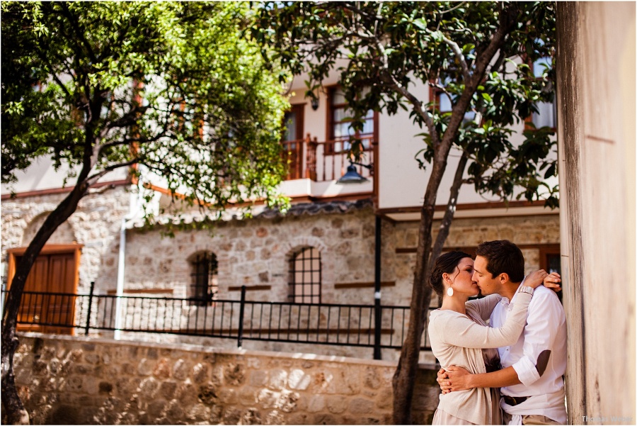
{"type": "MultiPolygon", "coordinates": [[[[47,212],[59,203],[61,197],[48,195],[4,201],[4,253],[8,247],[26,244],[29,236],[38,229],[47,212]]],[[[80,293],[88,292],[91,281],[96,281],[97,294],[115,293],[118,232],[121,217],[127,212],[124,201],[128,198],[123,187],[105,191],[99,196],[87,196],[81,201],[78,211],[52,238],[52,242],[78,242],[84,245],[79,269],[80,293]]],[[[190,261],[197,253],[212,252],[219,264],[218,298],[238,301],[240,287],[245,285],[248,287],[248,301],[289,301],[289,259],[300,248],[312,246],[321,254],[321,302],[371,306],[374,303],[375,216],[371,206],[365,206],[365,203],[361,206],[350,207],[345,212],[340,208],[332,208],[331,211],[289,214],[283,218],[220,221],[212,232],[183,230],[176,232],[175,237],[162,236],[161,229],[129,229],[125,247],[125,296],[191,296],[189,291],[193,267],[190,261]]],[[[434,229],[437,229],[437,223],[434,229]]],[[[417,235],[418,222],[382,220],[381,303],[384,305],[410,304],[417,235]]],[[[454,220],[446,246],[476,247],[483,240],[501,238],[522,245],[527,271],[537,269],[539,247],[559,242],[558,215],[457,219],[454,220]]],[[[437,306],[437,303],[437,298],[432,298],[432,306],[437,306]]],[[[141,307],[141,304],[137,306],[141,307]]],[[[196,305],[184,302],[171,308],[179,311],[177,319],[180,318],[183,323],[202,318],[197,312],[202,308],[196,305]]],[[[98,306],[94,304],[93,310],[96,309],[98,306]]],[[[100,314],[102,318],[104,314],[100,314]]],[[[141,316],[142,312],[137,314],[141,316]]],[[[154,315],[162,317],[159,310],[154,315]]],[[[364,329],[369,328],[369,325],[373,325],[373,321],[369,321],[371,315],[371,311],[366,311],[361,318],[356,318],[357,323],[364,324],[364,329]]],[[[310,321],[314,321],[315,317],[310,321]]],[[[224,324],[234,324],[236,328],[237,318],[238,312],[234,311],[233,319],[224,318],[224,324]]],[[[400,330],[400,322],[406,321],[407,317],[384,315],[383,339],[389,340],[391,337],[392,344],[400,344],[402,337],[396,330],[400,330]],[[390,335],[391,330],[394,330],[394,334],[390,335]]],[[[306,327],[306,323],[302,322],[299,328],[306,327]]],[[[334,327],[334,323],[331,324],[334,327]]],[[[355,325],[343,319],[340,328],[355,325]]],[[[112,336],[106,331],[93,334],[97,337],[112,336]]],[[[150,342],[236,347],[236,342],[231,339],[139,333],[124,334],[123,337],[150,342]]],[[[245,340],[243,347],[359,358],[372,358],[373,353],[373,349],[368,347],[251,340],[245,340]]],[[[382,359],[397,360],[399,354],[398,349],[382,349],[382,359]]],[[[430,353],[423,352],[421,361],[433,362],[435,359],[430,353]]]]}

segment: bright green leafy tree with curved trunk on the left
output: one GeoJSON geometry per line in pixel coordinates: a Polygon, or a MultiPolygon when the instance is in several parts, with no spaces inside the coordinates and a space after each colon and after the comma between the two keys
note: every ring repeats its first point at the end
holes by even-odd
{"type": "Polygon", "coordinates": [[[1,11],[2,182],[41,156],[67,164],[75,181],[30,242],[8,293],[2,403],[15,423],[28,422],[13,377],[25,280],[88,189],[130,168],[212,211],[282,201],[275,186],[287,100],[279,72],[264,66],[245,33],[254,15],[244,3],[4,2],[1,11]]]}

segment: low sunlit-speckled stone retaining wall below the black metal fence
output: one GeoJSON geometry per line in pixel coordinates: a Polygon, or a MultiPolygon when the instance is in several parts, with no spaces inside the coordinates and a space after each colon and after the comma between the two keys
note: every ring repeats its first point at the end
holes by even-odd
{"type": "MultiPolygon", "coordinates": [[[[396,364],[311,354],[21,335],[16,384],[32,424],[387,425],[396,364]]],[[[421,366],[413,422],[440,389],[421,366]]]]}

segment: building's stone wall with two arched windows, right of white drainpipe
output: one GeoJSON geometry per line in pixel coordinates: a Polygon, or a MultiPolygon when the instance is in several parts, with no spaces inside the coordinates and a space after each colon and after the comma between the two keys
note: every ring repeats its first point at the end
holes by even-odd
{"type": "MultiPolygon", "coordinates": [[[[245,285],[247,300],[285,302],[289,301],[289,259],[295,250],[313,246],[321,253],[322,303],[374,303],[371,208],[341,214],[231,220],[219,223],[212,232],[182,231],[171,238],[161,237],[159,230],[130,231],[126,288],[152,288],[172,292],[176,297],[188,296],[192,273],[189,259],[207,251],[216,254],[219,262],[219,298],[238,299],[239,287],[245,285]]],[[[383,220],[381,281],[385,304],[410,303],[417,237],[418,223],[383,220]]],[[[558,215],[457,219],[445,247],[476,247],[482,241],[499,239],[521,245],[527,271],[538,269],[539,247],[559,244],[558,215]]],[[[116,255],[106,254],[103,262],[113,263],[110,257],[116,255]]],[[[101,289],[113,291],[116,276],[116,269],[105,268],[101,289]]]]}

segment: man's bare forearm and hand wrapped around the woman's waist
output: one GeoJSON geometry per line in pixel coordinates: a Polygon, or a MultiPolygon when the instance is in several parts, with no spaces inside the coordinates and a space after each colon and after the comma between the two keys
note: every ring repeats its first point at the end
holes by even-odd
{"type": "Polygon", "coordinates": [[[471,374],[462,367],[450,366],[446,371],[438,371],[437,381],[442,393],[466,391],[471,388],[503,388],[522,383],[512,366],[481,374],[471,374]]]}

